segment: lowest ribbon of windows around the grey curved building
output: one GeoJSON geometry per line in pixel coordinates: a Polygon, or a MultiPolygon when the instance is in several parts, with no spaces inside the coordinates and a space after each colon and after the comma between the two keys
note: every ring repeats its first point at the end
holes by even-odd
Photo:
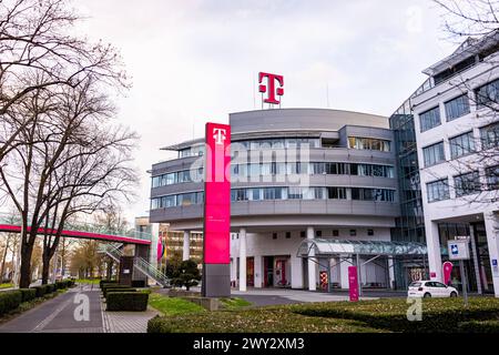
{"type": "MultiPolygon", "coordinates": [[[[231,200],[265,201],[265,200],[347,200],[348,192],[352,200],[394,202],[395,191],[388,189],[367,187],[249,187],[233,189],[231,200]]],[[[183,193],[151,199],[151,209],[186,206],[202,204],[203,192],[183,193]]]]}

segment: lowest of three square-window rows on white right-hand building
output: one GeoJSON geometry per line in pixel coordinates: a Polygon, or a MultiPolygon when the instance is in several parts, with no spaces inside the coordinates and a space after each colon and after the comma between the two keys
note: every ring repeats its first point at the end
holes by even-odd
{"type": "MultiPolygon", "coordinates": [[[[499,165],[485,170],[488,190],[499,190],[499,165]]],[[[450,199],[448,179],[432,181],[426,184],[428,202],[450,199]]],[[[480,174],[472,171],[454,176],[456,197],[479,193],[481,191],[480,174]]]]}

